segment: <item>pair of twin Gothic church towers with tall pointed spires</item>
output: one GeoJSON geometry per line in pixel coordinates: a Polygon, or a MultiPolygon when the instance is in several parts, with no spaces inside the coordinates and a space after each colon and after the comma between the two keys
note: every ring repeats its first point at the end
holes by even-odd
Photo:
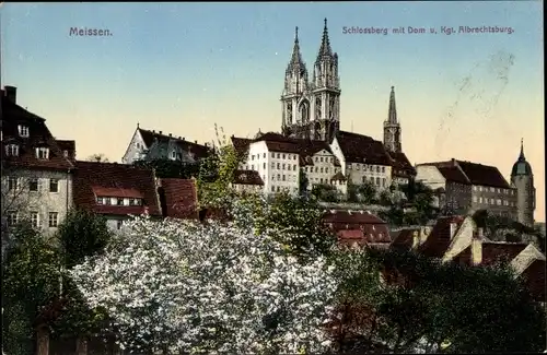
{"type": "Polygon", "coordinates": [[[314,64],[313,80],[300,51],[298,27],[281,95],[282,131],[286,135],[331,141],[340,127],[338,55],[328,39],[327,20],[314,64]]]}

